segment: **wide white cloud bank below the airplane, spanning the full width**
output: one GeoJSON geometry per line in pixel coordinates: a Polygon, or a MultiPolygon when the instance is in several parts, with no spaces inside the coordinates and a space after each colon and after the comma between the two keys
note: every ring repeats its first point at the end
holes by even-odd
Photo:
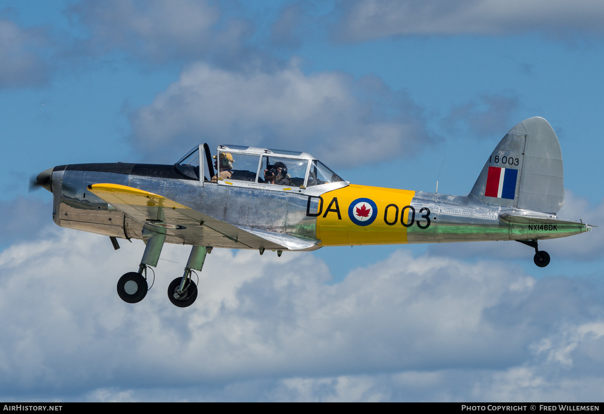
{"type": "MultiPolygon", "coordinates": [[[[3,395],[489,400],[527,366],[547,378],[531,380],[534,395],[601,381],[604,310],[592,285],[403,250],[327,285],[310,253],[216,249],[198,301],[181,309],[165,288],[188,249],[167,245],[162,258],[179,263],[160,261],[152,290],[130,305],[115,283],[137,269],[143,243],[121,244],[56,228],[0,253],[3,395]]],[[[585,398],[598,395],[590,389],[585,398]]]]}

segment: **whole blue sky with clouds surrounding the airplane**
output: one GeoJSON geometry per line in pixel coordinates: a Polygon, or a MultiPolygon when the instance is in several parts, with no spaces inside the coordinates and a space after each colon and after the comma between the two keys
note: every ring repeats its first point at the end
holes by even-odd
{"type": "Polygon", "coordinates": [[[600,228],[519,243],[214,250],[186,310],[167,246],[58,228],[32,174],[172,164],[193,145],[315,154],[344,179],[466,194],[516,123],[561,142],[559,217],[604,217],[596,1],[0,3],[0,398],[600,401],[600,228]],[[446,158],[445,158],[446,157],[446,158]],[[444,160],[444,163],[443,163],[444,160]],[[175,361],[182,362],[175,363],[175,361]]]}

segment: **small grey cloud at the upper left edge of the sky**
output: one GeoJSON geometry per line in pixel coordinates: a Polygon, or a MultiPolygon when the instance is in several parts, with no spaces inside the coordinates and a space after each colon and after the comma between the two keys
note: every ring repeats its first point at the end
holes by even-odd
{"type": "Polygon", "coordinates": [[[40,86],[48,80],[48,65],[42,57],[49,40],[42,30],[23,29],[0,19],[0,88],[40,86]]]}

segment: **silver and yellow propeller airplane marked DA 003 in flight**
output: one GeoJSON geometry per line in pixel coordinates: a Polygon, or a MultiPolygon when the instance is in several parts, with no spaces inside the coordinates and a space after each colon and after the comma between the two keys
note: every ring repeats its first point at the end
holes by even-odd
{"type": "Polygon", "coordinates": [[[144,241],[138,271],[117,284],[125,302],[146,296],[147,269],[164,243],[193,246],[168,287],[178,307],[197,298],[192,273],[213,247],[281,256],[326,246],[515,240],[533,247],[533,261],[545,267],[550,255],[539,240],[593,227],[556,216],[564,204],[562,153],[539,117],[501,139],[466,196],[354,185],[308,153],[219,145],[212,156],[207,144],[174,165],[60,165],[35,184],[53,193],[57,225],[107,235],[116,250],[118,238],[144,241]]]}

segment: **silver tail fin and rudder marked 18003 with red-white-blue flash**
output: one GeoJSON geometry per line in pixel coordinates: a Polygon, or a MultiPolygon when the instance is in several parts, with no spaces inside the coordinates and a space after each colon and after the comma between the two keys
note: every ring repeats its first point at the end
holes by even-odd
{"type": "Polygon", "coordinates": [[[550,124],[535,117],[510,129],[487,159],[469,197],[556,214],[564,205],[564,170],[550,124]]]}

